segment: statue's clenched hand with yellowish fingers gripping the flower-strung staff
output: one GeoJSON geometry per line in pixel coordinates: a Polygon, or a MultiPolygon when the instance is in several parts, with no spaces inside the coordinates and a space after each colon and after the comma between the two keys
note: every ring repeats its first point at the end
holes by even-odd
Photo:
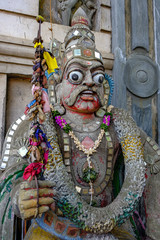
{"type": "Polygon", "coordinates": [[[56,191],[53,189],[54,184],[50,181],[38,181],[38,194],[36,182],[23,182],[20,185],[18,205],[21,217],[23,219],[36,218],[49,210],[49,206],[54,202],[53,196],[56,191]]]}

